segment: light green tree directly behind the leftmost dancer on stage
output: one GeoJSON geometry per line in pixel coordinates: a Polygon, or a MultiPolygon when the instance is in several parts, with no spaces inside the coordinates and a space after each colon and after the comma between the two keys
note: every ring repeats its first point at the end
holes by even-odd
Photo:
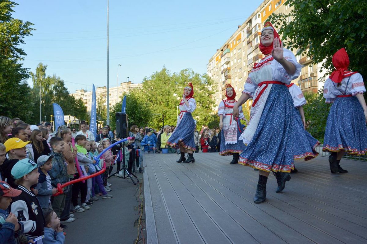
{"type": "Polygon", "coordinates": [[[143,94],[145,100],[151,104],[154,115],[149,125],[155,128],[162,126],[162,116],[165,115],[164,123],[176,125],[177,106],[182,98],[183,88],[191,82],[194,87],[196,110],[193,113],[198,126],[207,125],[212,121],[215,93],[215,83],[208,75],[200,75],[191,69],[181,70],[171,74],[163,67],[159,72],[145,77],[143,80],[143,94]]]}

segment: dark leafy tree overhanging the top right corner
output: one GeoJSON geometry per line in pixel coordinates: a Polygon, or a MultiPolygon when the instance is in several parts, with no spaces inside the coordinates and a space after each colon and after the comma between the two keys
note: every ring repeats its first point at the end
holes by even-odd
{"type": "Polygon", "coordinates": [[[272,15],[269,20],[282,26],[279,34],[288,40],[288,48],[297,49],[298,54],[306,52],[314,63],[332,70],[333,54],[344,47],[350,70],[367,77],[367,1],[288,0],[284,4],[290,4],[290,13],[272,15]]]}

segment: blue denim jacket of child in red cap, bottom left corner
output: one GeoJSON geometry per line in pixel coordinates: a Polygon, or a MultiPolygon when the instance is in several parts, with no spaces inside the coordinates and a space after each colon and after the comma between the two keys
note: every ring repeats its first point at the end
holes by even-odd
{"type": "Polygon", "coordinates": [[[2,244],[15,244],[15,237],[23,233],[24,225],[18,222],[21,228],[15,233],[15,225],[5,221],[8,215],[7,211],[0,209],[0,241],[2,244]]]}

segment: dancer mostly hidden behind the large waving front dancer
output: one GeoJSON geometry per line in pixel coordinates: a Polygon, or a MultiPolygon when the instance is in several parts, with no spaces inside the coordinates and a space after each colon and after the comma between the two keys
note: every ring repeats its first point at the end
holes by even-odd
{"type": "MultiPolygon", "coordinates": [[[[306,128],[306,119],[303,106],[306,104],[305,96],[301,89],[291,83],[287,85],[289,92],[293,99],[293,145],[294,145],[294,159],[305,159],[305,161],[316,158],[319,153],[316,147],[320,142],[311,136],[306,128]]],[[[298,170],[294,168],[291,173],[297,173],[298,170]]]]}

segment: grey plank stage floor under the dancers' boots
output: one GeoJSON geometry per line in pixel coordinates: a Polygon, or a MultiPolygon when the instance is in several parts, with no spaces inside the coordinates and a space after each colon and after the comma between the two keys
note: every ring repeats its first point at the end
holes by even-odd
{"type": "Polygon", "coordinates": [[[295,161],[284,191],[270,175],[266,202],[254,204],[258,171],[194,156],[144,155],[148,243],[367,243],[365,162],[343,159],[349,173],[331,174],[326,157],[295,161]]]}

